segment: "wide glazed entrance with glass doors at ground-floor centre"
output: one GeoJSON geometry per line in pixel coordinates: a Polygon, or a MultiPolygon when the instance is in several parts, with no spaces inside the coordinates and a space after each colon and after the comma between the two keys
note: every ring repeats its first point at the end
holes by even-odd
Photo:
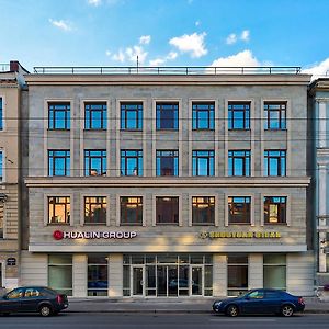
{"type": "Polygon", "coordinates": [[[124,296],[212,296],[211,254],[125,254],[124,296]]]}

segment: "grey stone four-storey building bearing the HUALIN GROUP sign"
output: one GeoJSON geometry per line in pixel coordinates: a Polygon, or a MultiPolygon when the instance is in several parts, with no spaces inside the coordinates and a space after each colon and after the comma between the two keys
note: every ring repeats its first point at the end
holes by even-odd
{"type": "Polygon", "coordinates": [[[23,284],[77,297],[313,295],[309,76],[47,71],[25,77],[23,284]]]}

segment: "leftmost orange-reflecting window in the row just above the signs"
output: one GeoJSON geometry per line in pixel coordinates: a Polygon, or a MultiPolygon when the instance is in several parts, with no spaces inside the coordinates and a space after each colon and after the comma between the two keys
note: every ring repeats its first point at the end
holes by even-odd
{"type": "Polygon", "coordinates": [[[48,223],[49,224],[70,223],[70,197],[69,196],[48,197],[48,223]]]}

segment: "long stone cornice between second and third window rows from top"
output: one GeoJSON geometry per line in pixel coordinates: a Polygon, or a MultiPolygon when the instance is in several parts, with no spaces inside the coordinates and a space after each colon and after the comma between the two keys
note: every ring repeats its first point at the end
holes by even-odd
{"type": "Polygon", "coordinates": [[[225,186],[225,188],[307,188],[310,183],[309,177],[285,177],[285,178],[27,178],[27,188],[184,188],[184,186],[225,186]]]}

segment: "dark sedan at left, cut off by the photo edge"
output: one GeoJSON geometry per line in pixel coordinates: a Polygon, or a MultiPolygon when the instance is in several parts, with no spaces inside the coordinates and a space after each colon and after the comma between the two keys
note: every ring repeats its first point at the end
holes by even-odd
{"type": "Polygon", "coordinates": [[[39,313],[43,317],[57,315],[68,307],[67,295],[44,286],[18,287],[0,297],[0,314],[39,313]]]}

